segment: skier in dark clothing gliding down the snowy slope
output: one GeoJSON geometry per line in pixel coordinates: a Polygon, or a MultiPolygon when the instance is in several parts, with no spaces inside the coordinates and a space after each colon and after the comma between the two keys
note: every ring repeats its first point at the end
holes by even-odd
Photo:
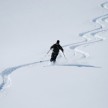
{"type": "Polygon", "coordinates": [[[54,63],[56,62],[56,58],[59,54],[59,50],[64,52],[63,48],[61,47],[61,45],[59,43],[60,43],[60,41],[57,40],[57,42],[50,47],[50,50],[53,50],[52,54],[51,54],[51,59],[50,59],[51,62],[54,62],[54,63]]]}

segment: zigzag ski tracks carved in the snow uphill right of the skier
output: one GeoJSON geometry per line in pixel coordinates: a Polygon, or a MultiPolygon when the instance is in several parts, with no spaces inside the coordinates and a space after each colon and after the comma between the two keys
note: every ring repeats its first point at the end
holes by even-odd
{"type": "MultiPolygon", "coordinates": [[[[100,6],[104,9],[108,9],[107,5],[108,5],[108,2],[105,2],[105,3],[102,3],[100,6]]],[[[80,50],[80,48],[85,45],[90,45],[90,44],[105,40],[104,37],[99,36],[99,33],[108,31],[107,19],[108,19],[108,14],[105,14],[105,15],[102,15],[100,17],[93,19],[92,22],[98,24],[100,27],[90,30],[90,31],[86,31],[84,33],[80,33],[79,36],[83,37],[85,39],[84,41],[65,45],[64,47],[69,47],[71,50],[74,51],[75,54],[76,53],[81,54],[82,59],[89,57],[89,53],[80,50]]]]}

